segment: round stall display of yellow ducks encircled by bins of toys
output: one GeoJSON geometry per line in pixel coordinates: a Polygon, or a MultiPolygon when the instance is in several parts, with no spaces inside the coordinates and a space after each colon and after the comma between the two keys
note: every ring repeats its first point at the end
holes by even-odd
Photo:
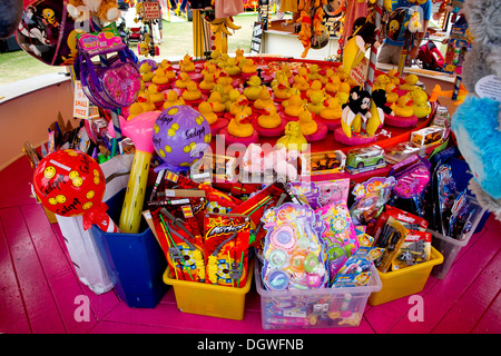
{"type": "Polygon", "coordinates": [[[94,241],[80,280],[129,307],[173,288],[179,313],[242,320],[257,293],[264,329],[356,327],[445,278],[484,219],[415,75],[376,70],[369,91],[338,62],[237,50],[126,60],[114,97],[81,65],[95,118],[51,131],[33,192],[94,241]]]}

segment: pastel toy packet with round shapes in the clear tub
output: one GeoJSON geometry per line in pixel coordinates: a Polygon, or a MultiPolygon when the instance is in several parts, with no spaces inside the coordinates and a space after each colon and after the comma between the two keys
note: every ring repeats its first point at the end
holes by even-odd
{"type": "Polygon", "coordinates": [[[263,216],[267,234],[262,278],[273,290],[322,288],[328,280],[321,234],[324,224],[307,205],[286,202],[263,216]]]}

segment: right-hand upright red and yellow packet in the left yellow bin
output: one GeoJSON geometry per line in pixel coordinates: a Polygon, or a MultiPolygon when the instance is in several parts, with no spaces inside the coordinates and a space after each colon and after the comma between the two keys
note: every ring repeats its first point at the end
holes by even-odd
{"type": "Polygon", "coordinates": [[[250,219],[244,215],[205,216],[206,283],[240,288],[247,283],[250,219]]]}

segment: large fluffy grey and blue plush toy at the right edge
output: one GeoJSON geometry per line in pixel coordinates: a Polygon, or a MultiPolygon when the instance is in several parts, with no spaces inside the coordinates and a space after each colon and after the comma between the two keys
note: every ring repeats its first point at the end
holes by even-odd
{"type": "Polygon", "coordinates": [[[501,220],[501,2],[466,0],[463,10],[473,37],[462,76],[469,95],[451,128],[473,172],[470,189],[501,220]]]}

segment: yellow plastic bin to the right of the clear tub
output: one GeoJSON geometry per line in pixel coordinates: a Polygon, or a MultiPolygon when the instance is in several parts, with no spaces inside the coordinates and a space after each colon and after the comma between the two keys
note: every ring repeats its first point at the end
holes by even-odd
{"type": "Polygon", "coordinates": [[[432,268],[442,261],[442,254],[432,246],[430,260],[425,263],[387,273],[377,270],[383,287],[369,297],[369,304],[375,306],[420,293],[423,290],[432,268]]]}

